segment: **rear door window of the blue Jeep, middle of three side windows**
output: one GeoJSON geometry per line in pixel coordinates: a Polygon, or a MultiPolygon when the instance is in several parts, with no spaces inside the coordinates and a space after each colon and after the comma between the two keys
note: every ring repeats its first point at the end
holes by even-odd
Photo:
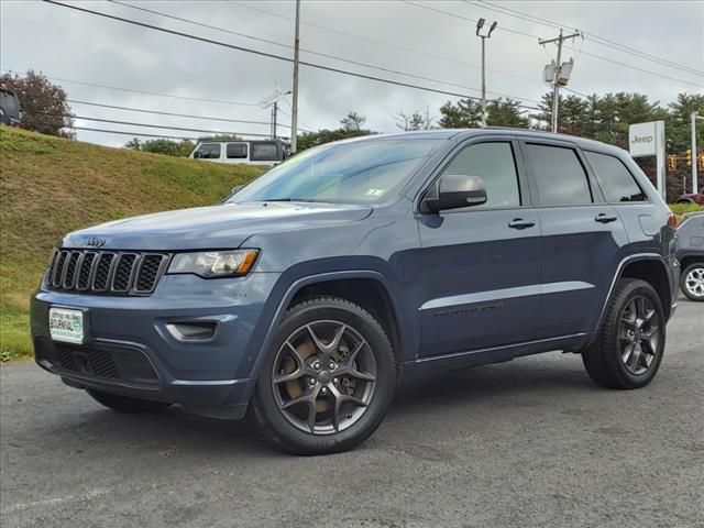
{"type": "Polygon", "coordinates": [[[526,144],[541,206],[592,204],[586,170],[574,148],[526,144]]]}

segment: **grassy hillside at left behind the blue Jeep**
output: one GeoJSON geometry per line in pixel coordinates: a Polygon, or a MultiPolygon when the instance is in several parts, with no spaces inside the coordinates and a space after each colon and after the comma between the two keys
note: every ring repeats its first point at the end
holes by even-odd
{"type": "Polygon", "coordinates": [[[261,172],[0,128],[0,361],[31,354],[29,298],[63,234],[216,204],[261,172]]]}

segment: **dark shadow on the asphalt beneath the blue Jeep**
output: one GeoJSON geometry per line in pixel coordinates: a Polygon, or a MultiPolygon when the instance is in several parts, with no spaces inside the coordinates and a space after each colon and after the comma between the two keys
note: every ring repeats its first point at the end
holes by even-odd
{"type": "MultiPolygon", "coordinates": [[[[422,420],[431,411],[437,420],[444,419],[443,416],[453,420],[458,411],[466,414],[490,400],[529,406],[537,397],[544,399],[546,393],[556,398],[573,398],[595,387],[581,361],[578,365],[575,361],[519,360],[406,378],[388,416],[392,420],[413,421],[415,417],[422,420]]],[[[201,457],[206,452],[218,457],[271,458],[277,453],[261,439],[249,417],[239,421],[217,420],[191,415],[177,406],[164,413],[122,415],[101,408],[87,395],[80,394],[80,399],[72,393],[70,405],[57,416],[59,427],[52,427],[54,422],[44,426],[44,432],[51,432],[45,439],[51,441],[52,451],[61,446],[78,454],[94,451],[94,455],[114,450],[140,450],[165,458],[201,457]],[[86,410],[76,413],[77,406],[86,410]]],[[[394,437],[394,430],[387,428],[385,436],[394,440],[388,438],[394,437]]]]}

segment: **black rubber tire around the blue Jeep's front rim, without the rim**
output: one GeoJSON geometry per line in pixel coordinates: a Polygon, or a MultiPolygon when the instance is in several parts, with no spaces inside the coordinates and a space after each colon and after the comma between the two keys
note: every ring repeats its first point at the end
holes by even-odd
{"type": "Polygon", "coordinates": [[[366,311],[342,299],[319,298],[292,308],[279,324],[266,354],[254,395],[254,411],[278,437],[276,443],[304,454],[329,453],[351,449],[364,441],[378,427],[393,399],[396,364],[388,338],[382,327],[366,311]],[[304,432],[280,413],[272,388],[274,361],[286,339],[301,326],[316,320],[343,322],[362,334],[376,361],[376,386],[372,400],[362,417],[349,428],[330,435],[304,432]]]}

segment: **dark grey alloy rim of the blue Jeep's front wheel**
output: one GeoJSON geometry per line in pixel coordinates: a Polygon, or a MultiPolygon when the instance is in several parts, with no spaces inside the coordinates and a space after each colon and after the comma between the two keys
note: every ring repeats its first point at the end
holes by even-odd
{"type": "Polygon", "coordinates": [[[376,361],[349,324],[319,320],[295,330],[274,361],[272,388],[282,415],[314,435],[348,429],[364,415],[376,387],[376,361]]]}

